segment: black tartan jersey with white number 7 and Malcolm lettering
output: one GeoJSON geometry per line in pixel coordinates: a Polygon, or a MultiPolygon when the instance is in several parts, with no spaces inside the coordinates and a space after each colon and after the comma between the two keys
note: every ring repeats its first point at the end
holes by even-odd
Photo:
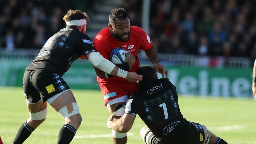
{"type": "Polygon", "coordinates": [[[125,114],[138,114],[160,143],[183,137],[190,127],[180,112],[176,87],[166,78],[142,83],[127,100],[125,114]]]}

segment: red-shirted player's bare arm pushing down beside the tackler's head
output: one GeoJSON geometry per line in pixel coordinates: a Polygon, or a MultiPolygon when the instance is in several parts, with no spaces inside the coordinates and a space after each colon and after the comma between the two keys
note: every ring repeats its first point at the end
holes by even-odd
{"type": "Polygon", "coordinates": [[[152,43],[151,49],[148,51],[145,51],[148,59],[153,64],[154,69],[156,70],[156,73],[160,72],[162,74],[162,77],[164,78],[164,75],[166,75],[166,78],[168,78],[168,71],[164,68],[163,65],[159,64],[158,61],[158,53],[156,50],[155,45],[152,43]]]}

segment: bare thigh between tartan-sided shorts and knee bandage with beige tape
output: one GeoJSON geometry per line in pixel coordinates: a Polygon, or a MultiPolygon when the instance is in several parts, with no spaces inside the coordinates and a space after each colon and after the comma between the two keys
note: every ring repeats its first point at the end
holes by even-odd
{"type": "Polygon", "coordinates": [[[60,94],[50,105],[59,111],[62,107],[76,103],[76,99],[71,90],[67,90],[60,94]]]}

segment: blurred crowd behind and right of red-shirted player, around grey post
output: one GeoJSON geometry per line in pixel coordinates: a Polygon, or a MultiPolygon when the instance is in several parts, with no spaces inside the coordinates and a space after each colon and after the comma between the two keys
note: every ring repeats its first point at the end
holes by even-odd
{"type": "MultiPolygon", "coordinates": [[[[126,0],[141,26],[142,1],[126,0]]],[[[159,53],[256,57],[255,0],[151,0],[149,36],[159,53]]]]}

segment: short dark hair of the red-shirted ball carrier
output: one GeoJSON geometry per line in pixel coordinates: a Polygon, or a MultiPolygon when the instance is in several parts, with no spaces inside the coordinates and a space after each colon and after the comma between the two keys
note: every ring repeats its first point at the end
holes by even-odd
{"type": "Polygon", "coordinates": [[[126,19],[129,18],[127,12],[124,8],[112,9],[109,13],[109,23],[113,24],[116,19],[126,19]]]}

